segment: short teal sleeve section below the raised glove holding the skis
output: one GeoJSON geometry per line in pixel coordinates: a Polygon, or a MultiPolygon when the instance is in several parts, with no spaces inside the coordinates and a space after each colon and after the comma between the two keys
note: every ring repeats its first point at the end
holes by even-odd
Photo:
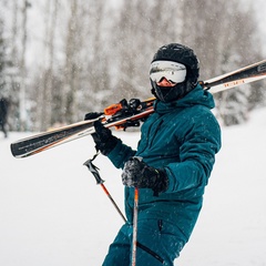
{"type": "Polygon", "coordinates": [[[122,141],[119,140],[116,146],[112,150],[108,157],[116,168],[123,168],[125,162],[129,161],[130,157],[134,156],[135,153],[136,151],[123,144],[122,141]]]}

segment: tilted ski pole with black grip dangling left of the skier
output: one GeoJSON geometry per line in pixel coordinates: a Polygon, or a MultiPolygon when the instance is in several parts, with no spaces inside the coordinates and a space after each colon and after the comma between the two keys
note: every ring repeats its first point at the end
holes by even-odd
{"type": "Polygon", "coordinates": [[[111,203],[113,204],[113,206],[116,208],[117,213],[120,214],[120,216],[123,218],[123,221],[126,223],[126,218],[123,215],[123,213],[121,212],[121,209],[119,208],[117,204],[115,203],[115,201],[113,200],[113,197],[111,196],[111,194],[109,193],[106,186],[103,184],[104,180],[101,178],[100,174],[99,174],[99,168],[92,163],[92,161],[98,156],[99,153],[96,153],[92,160],[88,160],[86,162],[84,162],[83,165],[85,165],[89,171],[93,174],[93,176],[96,180],[96,184],[101,185],[101,187],[103,188],[104,193],[108,195],[109,200],[111,201],[111,203]]]}

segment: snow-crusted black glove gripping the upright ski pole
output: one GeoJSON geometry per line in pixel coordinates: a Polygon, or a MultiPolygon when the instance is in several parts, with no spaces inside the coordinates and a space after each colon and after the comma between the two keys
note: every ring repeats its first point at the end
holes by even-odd
{"type": "Polygon", "coordinates": [[[161,192],[165,192],[168,187],[166,171],[151,167],[140,157],[132,157],[125,163],[122,182],[126,186],[152,188],[154,196],[157,196],[161,192]]]}

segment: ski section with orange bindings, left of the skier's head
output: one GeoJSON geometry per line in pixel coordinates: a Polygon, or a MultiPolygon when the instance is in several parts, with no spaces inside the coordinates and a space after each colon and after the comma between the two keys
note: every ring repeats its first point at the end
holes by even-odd
{"type": "Polygon", "coordinates": [[[139,126],[142,119],[153,113],[153,98],[144,102],[132,99],[127,103],[126,100],[122,100],[120,103],[106,108],[104,113],[98,119],[81,121],[11,143],[11,153],[18,158],[28,157],[60,144],[92,134],[94,133],[93,123],[96,120],[101,120],[105,127],[115,126],[117,130],[139,126]]]}

